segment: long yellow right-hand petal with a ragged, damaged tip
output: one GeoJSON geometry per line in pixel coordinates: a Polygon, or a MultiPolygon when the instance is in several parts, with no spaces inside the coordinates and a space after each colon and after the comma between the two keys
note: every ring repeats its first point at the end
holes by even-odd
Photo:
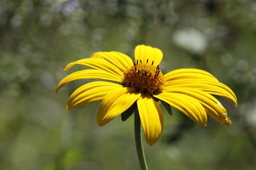
{"type": "Polygon", "coordinates": [[[229,125],[228,122],[226,122],[226,109],[214,96],[208,94],[207,92],[186,87],[169,88],[167,90],[163,89],[163,92],[174,92],[191,96],[192,98],[198,100],[202,104],[208,115],[210,115],[212,118],[216,119],[218,122],[222,124],[229,125]]]}

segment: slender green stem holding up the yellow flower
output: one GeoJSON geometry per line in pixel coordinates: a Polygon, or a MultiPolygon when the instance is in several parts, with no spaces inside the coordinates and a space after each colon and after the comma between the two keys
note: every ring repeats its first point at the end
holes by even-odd
{"type": "Polygon", "coordinates": [[[135,109],[134,114],[134,132],[135,132],[135,143],[137,155],[140,163],[141,170],[147,170],[145,154],[143,151],[142,137],[141,137],[141,123],[138,109],[135,109]]]}

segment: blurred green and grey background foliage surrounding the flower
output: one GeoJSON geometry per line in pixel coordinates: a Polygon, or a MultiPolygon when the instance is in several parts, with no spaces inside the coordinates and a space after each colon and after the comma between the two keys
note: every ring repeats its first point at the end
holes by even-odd
{"type": "MultiPolygon", "coordinates": [[[[100,102],[67,111],[74,70],[66,64],[98,51],[131,57],[158,47],[163,73],[200,68],[237,94],[223,98],[232,125],[199,127],[164,111],[160,140],[144,143],[149,169],[256,167],[256,2],[0,0],[0,169],[139,169],[133,116],[98,127],[100,102]]],[[[144,140],[144,137],[143,137],[144,140]]]]}

